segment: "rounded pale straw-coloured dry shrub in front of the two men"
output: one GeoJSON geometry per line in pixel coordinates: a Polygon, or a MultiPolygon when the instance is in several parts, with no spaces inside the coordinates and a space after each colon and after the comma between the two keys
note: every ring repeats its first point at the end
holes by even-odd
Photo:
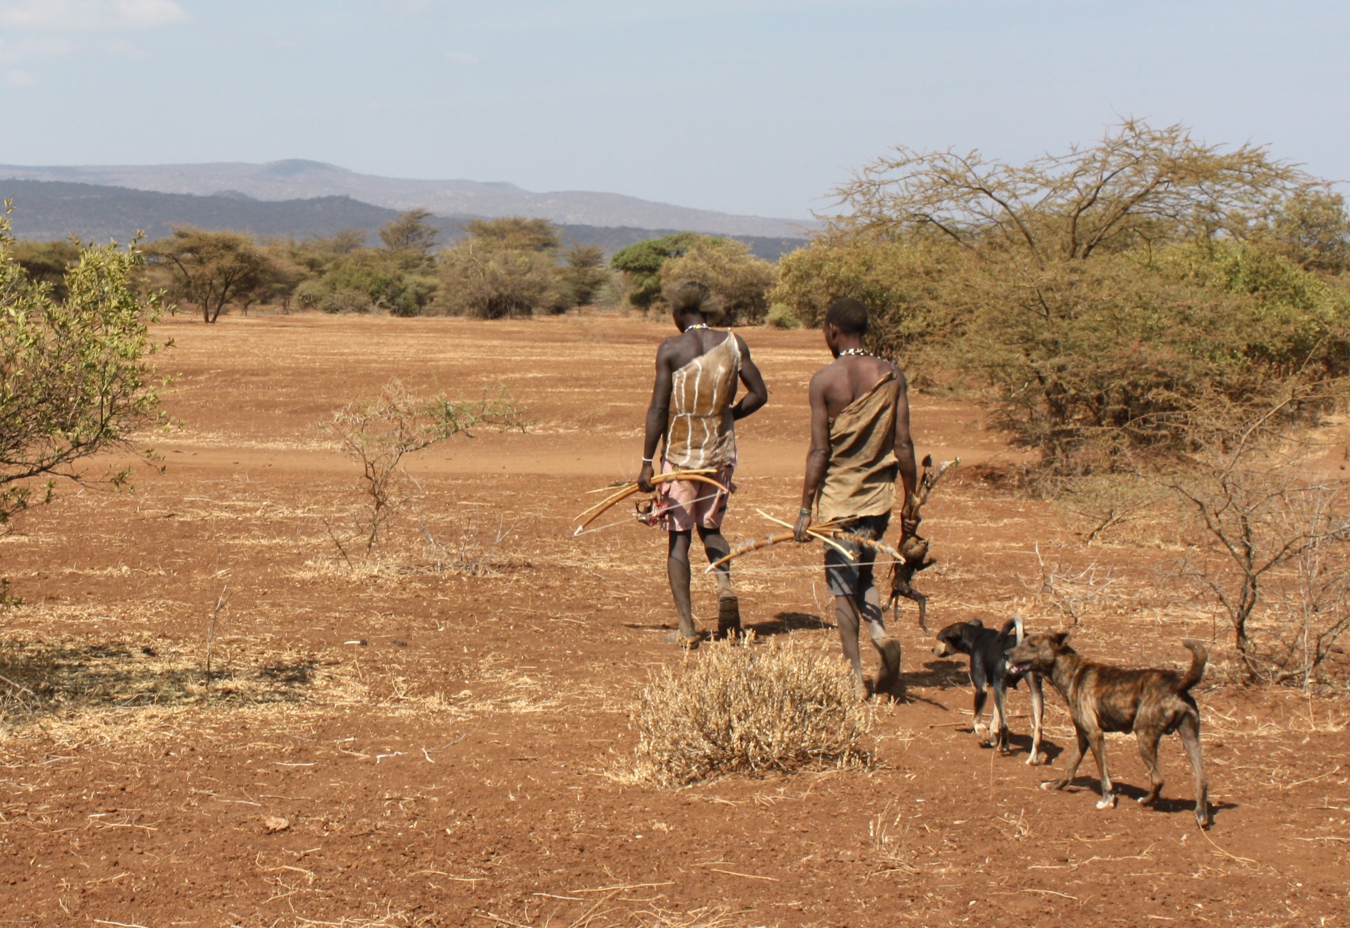
{"type": "Polygon", "coordinates": [[[679,788],[725,773],[868,765],[873,719],[855,688],[848,664],[819,645],[705,646],[643,691],[636,778],[679,788]]]}

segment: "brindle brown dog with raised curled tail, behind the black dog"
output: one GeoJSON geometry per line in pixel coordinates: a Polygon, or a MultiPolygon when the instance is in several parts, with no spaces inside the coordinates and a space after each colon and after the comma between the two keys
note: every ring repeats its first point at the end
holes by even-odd
{"type": "Polygon", "coordinates": [[[1029,635],[1007,654],[1010,673],[1021,676],[1035,672],[1050,678],[1069,704],[1077,743],[1064,765],[1064,776],[1041,784],[1041,789],[1064,789],[1079,772],[1083,754],[1092,747],[1098,770],[1102,773],[1102,801],[1099,809],[1115,805],[1115,786],[1106,766],[1107,731],[1135,734],[1139,755],[1149,769],[1153,788],[1139,799],[1141,805],[1153,803],[1162,790],[1162,772],[1158,769],[1158,742],[1162,735],[1180,732],[1181,743],[1195,772],[1195,820],[1208,828],[1208,786],[1200,758],[1200,709],[1191,696],[1191,688],[1204,676],[1208,651],[1197,641],[1183,641],[1191,649],[1191,666],[1177,670],[1135,670],[1096,664],[1085,660],[1068,645],[1069,633],[1050,631],[1029,635]]]}

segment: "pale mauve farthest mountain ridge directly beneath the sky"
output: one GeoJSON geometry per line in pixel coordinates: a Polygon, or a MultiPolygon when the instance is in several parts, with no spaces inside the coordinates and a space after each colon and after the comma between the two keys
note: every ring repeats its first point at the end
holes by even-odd
{"type": "Polygon", "coordinates": [[[532,193],[505,182],[378,177],[302,159],[266,165],[244,162],[73,167],[0,165],[0,178],[92,183],[197,196],[230,192],[234,196],[243,194],[262,201],[346,196],[389,209],[423,206],[446,216],[531,216],[567,225],[626,225],[736,236],[799,237],[807,235],[814,225],[809,220],[732,216],[688,209],[618,193],[585,190],[532,193]]]}

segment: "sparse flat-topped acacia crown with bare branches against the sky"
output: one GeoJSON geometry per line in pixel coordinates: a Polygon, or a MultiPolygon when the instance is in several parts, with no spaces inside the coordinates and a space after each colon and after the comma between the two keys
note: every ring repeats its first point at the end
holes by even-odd
{"type": "Polygon", "coordinates": [[[834,192],[848,210],[834,224],[932,231],[1045,267],[1220,231],[1246,236],[1311,182],[1264,147],[1210,146],[1180,124],[1127,119],[1094,146],[1025,165],[898,147],[834,192]]]}

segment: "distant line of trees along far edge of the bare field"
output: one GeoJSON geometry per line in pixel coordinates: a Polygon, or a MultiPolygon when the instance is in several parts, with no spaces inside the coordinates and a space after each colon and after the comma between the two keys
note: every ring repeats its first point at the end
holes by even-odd
{"type": "MultiPolygon", "coordinates": [[[[413,209],[379,229],[369,247],[359,229],[305,240],[256,240],[230,231],[176,228],[142,245],[142,287],[169,303],[194,308],[215,322],[230,310],[275,305],[327,313],[473,316],[505,318],[563,313],[595,302],[659,303],[662,266],[697,278],[722,299],[737,324],[764,314],[774,266],[734,239],[679,233],[621,250],[612,263],[599,245],[563,245],[556,227],[525,217],[481,219],[437,248],[431,213],[413,209]]],[[[12,252],[30,277],[63,294],[68,268],[80,259],[74,241],[15,241],[12,252]]],[[[667,272],[667,277],[670,274],[667,272]]]]}

